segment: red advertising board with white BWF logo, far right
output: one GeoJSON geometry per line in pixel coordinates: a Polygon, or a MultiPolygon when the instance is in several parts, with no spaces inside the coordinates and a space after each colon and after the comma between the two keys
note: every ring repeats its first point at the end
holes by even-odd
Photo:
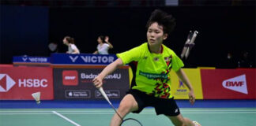
{"type": "Polygon", "coordinates": [[[201,69],[204,99],[256,99],[256,69],[201,69]]]}

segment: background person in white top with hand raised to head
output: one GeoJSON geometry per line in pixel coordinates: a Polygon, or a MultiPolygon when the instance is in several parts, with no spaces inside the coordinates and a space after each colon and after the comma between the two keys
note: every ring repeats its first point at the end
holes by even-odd
{"type": "Polygon", "coordinates": [[[97,50],[93,54],[108,54],[108,50],[113,48],[112,44],[108,40],[108,36],[104,37],[103,35],[100,35],[97,39],[99,43],[97,50]]]}

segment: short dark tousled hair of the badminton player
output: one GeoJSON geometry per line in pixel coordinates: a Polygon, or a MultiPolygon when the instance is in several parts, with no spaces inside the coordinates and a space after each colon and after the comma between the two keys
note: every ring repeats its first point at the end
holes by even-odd
{"type": "Polygon", "coordinates": [[[164,34],[167,33],[168,35],[171,34],[171,31],[174,30],[176,25],[175,18],[172,17],[171,14],[165,13],[160,9],[155,9],[151,13],[146,28],[149,28],[149,26],[155,22],[162,26],[164,28],[164,34]]]}

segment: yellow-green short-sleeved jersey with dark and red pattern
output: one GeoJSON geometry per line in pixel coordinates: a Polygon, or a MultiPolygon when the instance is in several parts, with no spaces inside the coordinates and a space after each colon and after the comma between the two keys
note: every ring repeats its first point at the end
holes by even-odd
{"type": "Polygon", "coordinates": [[[183,61],[173,50],[162,45],[160,54],[149,51],[148,43],[117,54],[124,65],[137,61],[135,85],[132,89],[145,92],[157,98],[172,98],[169,72],[175,72],[184,66],[183,61]]]}

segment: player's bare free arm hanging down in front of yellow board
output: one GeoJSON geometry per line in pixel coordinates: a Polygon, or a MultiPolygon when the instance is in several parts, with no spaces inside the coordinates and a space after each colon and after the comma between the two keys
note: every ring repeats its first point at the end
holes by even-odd
{"type": "Polygon", "coordinates": [[[177,72],[176,72],[177,76],[179,76],[179,79],[181,81],[183,81],[183,83],[186,84],[186,87],[188,87],[190,89],[190,92],[189,92],[189,98],[190,98],[190,103],[193,105],[194,104],[194,101],[195,101],[195,96],[194,96],[194,89],[190,83],[190,80],[188,80],[185,72],[183,72],[183,69],[179,69],[177,72]]]}

